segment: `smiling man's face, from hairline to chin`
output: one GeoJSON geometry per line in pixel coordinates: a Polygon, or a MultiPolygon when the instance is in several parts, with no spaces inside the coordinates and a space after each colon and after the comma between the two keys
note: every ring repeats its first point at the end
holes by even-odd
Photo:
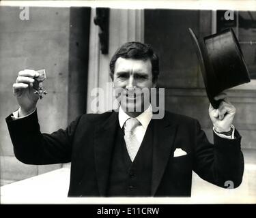
{"type": "Polygon", "coordinates": [[[141,90],[154,87],[152,82],[152,64],[150,59],[124,59],[119,57],[115,62],[113,83],[115,95],[122,109],[130,116],[141,114],[149,106],[150,95],[141,90]],[[144,100],[147,100],[144,105],[144,100]],[[139,111],[137,108],[141,108],[139,111]],[[136,111],[137,110],[137,111],[136,111]]]}

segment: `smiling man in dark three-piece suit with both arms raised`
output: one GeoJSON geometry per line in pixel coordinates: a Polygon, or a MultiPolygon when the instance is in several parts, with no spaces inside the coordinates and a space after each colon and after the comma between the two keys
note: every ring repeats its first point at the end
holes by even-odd
{"type": "Polygon", "coordinates": [[[41,134],[38,124],[31,85],[38,72],[19,72],[13,88],[20,108],[6,119],[16,158],[27,164],[71,161],[68,196],[190,196],[192,170],[220,187],[227,181],[240,185],[241,137],[227,99],[217,110],[209,108],[211,144],[197,120],[167,111],[152,119],[151,104],[134,95],[156,87],[158,57],[150,45],[124,44],[110,68],[119,112],[83,114],[53,134],[41,134]]]}

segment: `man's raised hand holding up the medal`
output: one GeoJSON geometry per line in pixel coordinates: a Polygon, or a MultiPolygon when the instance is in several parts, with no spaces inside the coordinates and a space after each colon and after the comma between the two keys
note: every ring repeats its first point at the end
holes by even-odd
{"type": "Polygon", "coordinates": [[[33,82],[35,82],[34,78],[38,76],[38,72],[32,69],[18,72],[16,83],[13,84],[12,88],[20,106],[20,116],[30,114],[35,109],[38,95],[34,93],[33,82]]]}

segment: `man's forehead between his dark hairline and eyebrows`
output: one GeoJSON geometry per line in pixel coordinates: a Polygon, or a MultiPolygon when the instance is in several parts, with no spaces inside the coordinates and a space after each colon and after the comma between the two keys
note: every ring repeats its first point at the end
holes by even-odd
{"type": "Polygon", "coordinates": [[[115,61],[115,72],[144,72],[152,73],[152,65],[150,59],[124,59],[119,57],[115,61]]]}

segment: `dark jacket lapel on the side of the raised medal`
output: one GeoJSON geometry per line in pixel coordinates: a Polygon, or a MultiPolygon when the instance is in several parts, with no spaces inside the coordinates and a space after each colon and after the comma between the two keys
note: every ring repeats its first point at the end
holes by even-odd
{"type": "Polygon", "coordinates": [[[100,196],[106,196],[106,185],[109,180],[109,168],[118,126],[117,117],[118,113],[113,112],[109,119],[94,129],[94,155],[100,196]]]}

